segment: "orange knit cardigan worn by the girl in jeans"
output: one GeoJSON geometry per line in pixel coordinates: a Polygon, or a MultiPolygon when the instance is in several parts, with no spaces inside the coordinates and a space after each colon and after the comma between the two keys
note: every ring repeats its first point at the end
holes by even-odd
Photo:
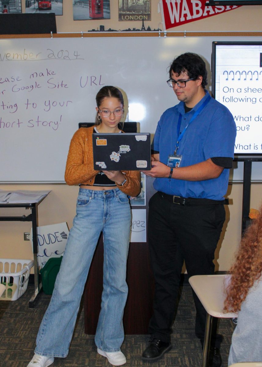
{"type": "MultiPolygon", "coordinates": [[[[68,185],[92,185],[95,175],[94,170],[92,133],[94,127],[81,127],[71,139],[66,161],[65,181],[68,185]]],[[[139,171],[122,171],[127,179],[124,186],[117,187],[126,195],[137,196],[141,189],[139,171]]]]}

